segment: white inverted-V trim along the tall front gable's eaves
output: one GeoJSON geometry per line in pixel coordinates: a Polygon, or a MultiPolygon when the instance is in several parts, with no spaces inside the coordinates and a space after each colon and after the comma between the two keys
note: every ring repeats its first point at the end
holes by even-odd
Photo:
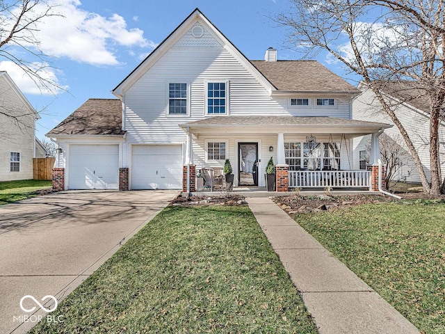
{"type": "Polygon", "coordinates": [[[232,43],[230,40],[218,29],[216,26],[201,12],[199,8],[195,8],[193,12],[184,19],[177,28],[170,33],[170,35],[165,38],[143,61],[140,63],[127,77],[125,77],[124,80],[118,84],[113,90],[111,90],[111,93],[118,97],[122,97],[122,90],[125,90],[127,86],[131,86],[134,82],[136,82],[142,75],[145,73],[149,68],[152,66],[152,64],[156,63],[156,61],[161,58],[163,53],[170,49],[172,44],[176,40],[179,40],[188,29],[191,28],[192,24],[199,20],[200,23],[204,24],[204,26],[207,26],[209,28],[210,32],[216,35],[220,40],[227,45],[228,49],[232,51],[234,56],[238,58],[238,60],[243,63],[245,68],[250,71],[250,73],[256,77],[261,84],[263,84],[266,88],[269,90],[276,90],[276,87],[273,86],[273,84],[262,74],[257,70],[252,63],[244,56],[244,54],[232,43]]]}

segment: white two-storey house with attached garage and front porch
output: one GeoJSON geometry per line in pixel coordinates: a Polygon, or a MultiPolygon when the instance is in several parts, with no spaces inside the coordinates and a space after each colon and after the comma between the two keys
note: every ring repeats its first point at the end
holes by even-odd
{"type": "Polygon", "coordinates": [[[56,189],[193,191],[195,173],[225,159],[235,186],[263,187],[270,157],[277,191],[368,189],[371,172],[350,171],[351,139],[389,127],[352,120],[359,90],[320,63],[279,61],[273,48],[249,61],[199,9],[112,93],[47,134],[60,148],[56,189]]]}

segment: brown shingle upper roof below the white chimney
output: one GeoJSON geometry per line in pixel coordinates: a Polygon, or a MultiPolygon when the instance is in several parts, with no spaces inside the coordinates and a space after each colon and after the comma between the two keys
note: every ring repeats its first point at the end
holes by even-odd
{"type": "Polygon", "coordinates": [[[359,93],[318,61],[251,61],[278,90],[359,93]]]}

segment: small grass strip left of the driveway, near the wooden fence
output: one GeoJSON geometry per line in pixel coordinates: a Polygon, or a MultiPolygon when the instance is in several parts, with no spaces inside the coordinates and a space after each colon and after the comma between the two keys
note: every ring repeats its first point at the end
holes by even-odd
{"type": "Polygon", "coordinates": [[[18,180],[0,182],[0,205],[38,196],[35,191],[47,188],[51,188],[51,181],[18,180]]]}

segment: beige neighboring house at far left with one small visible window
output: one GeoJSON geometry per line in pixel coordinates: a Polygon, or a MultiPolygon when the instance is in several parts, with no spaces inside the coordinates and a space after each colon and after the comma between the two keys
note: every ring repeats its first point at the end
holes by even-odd
{"type": "Polygon", "coordinates": [[[33,178],[39,118],[8,73],[0,72],[0,181],[33,178]]]}

